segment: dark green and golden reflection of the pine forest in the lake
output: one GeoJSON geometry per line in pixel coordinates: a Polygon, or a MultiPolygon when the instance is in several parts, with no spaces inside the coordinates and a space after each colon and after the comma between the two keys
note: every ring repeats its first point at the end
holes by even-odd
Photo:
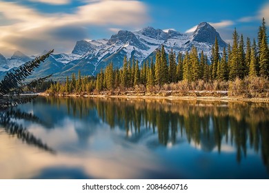
{"type": "Polygon", "coordinates": [[[189,143],[208,152],[217,147],[221,153],[222,144],[232,145],[239,163],[248,150],[255,150],[269,165],[268,103],[69,97],[39,100],[58,108],[66,106],[68,114],[78,118],[95,110],[111,129],[126,130],[127,138],[130,133],[139,137],[141,130],[152,130],[158,134],[159,143],[168,145],[177,143],[179,136],[186,136],[189,143]]]}

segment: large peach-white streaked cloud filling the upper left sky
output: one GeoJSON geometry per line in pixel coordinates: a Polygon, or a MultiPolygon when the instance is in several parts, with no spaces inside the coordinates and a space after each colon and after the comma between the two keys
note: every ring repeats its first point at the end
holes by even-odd
{"type": "Polygon", "coordinates": [[[0,0],[1,17],[8,23],[0,26],[1,52],[23,50],[26,54],[36,54],[51,48],[66,52],[67,48],[72,49],[74,41],[87,38],[90,26],[107,26],[107,31],[111,30],[109,26],[137,28],[149,19],[147,8],[141,1],[94,1],[75,9],[73,14],[45,14],[0,0]],[[66,30],[71,30],[72,34],[66,30]],[[49,48],[43,48],[46,46],[49,48]]]}

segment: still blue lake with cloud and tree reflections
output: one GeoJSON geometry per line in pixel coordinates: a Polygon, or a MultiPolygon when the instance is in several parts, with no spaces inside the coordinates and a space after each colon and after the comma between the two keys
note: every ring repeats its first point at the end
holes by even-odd
{"type": "Polygon", "coordinates": [[[39,96],[2,113],[0,179],[268,179],[269,104],[39,96]]]}

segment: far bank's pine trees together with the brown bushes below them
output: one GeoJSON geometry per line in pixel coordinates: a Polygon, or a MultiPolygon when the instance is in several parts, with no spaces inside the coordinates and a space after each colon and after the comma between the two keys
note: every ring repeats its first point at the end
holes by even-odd
{"type": "Polygon", "coordinates": [[[157,50],[155,59],[144,61],[140,68],[135,59],[123,59],[123,67],[114,69],[113,63],[96,77],[81,77],[81,73],[66,77],[66,82],[52,83],[49,94],[148,94],[175,96],[207,96],[223,94],[244,97],[269,96],[269,48],[263,19],[258,41],[243,41],[237,30],[232,34],[232,46],[219,51],[217,38],[212,46],[212,57],[197,52],[173,50],[166,53],[164,46],[157,50]],[[219,92],[221,91],[221,92],[219,92]]]}

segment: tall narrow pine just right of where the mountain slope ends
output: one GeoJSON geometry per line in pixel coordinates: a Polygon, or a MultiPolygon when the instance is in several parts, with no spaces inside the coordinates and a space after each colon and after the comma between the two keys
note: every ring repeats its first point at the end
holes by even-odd
{"type": "Polygon", "coordinates": [[[239,36],[237,34],[237,30],[232,34],[232,53],[231,53],[231,60],[230,60],[230,74],[229,79],[234,80],[236,77],[239,76],[239,51],[238,51],[238,41],[239,36]]]}

